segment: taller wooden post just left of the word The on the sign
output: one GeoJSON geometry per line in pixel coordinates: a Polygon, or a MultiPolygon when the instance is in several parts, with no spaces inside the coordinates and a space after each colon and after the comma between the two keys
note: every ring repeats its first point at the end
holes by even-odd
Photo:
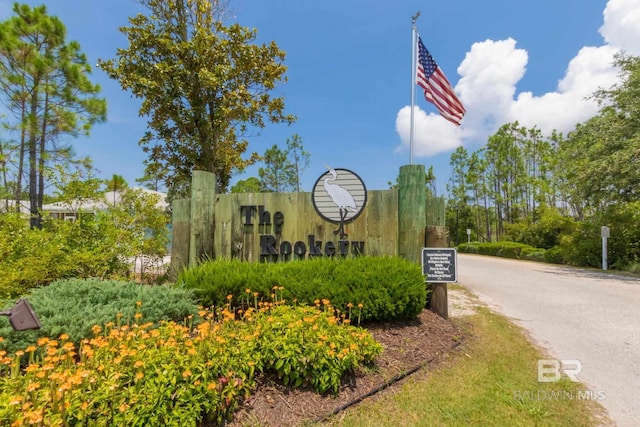
{"type": "Polygon", "coordinates": [[[195,266],[203,259],[215,258],[213,239],[215,201],[215,174],[193,171],[191,176],[189,267],[195,266]]]}

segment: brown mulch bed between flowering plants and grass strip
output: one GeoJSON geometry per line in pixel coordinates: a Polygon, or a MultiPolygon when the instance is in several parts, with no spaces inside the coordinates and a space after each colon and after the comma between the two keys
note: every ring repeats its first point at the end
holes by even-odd
{"type": "Polygon", "coordinates": [[[295,427],[325,420],[413,372],[433,369],[464,338],[464,332],[456,324],[429,310],[413,321],[363,326],[382,344],[384,351],[375,367],[358,370],[345,378],[337,395],[292,389],[261,378],[227,426],[295,427]]]}

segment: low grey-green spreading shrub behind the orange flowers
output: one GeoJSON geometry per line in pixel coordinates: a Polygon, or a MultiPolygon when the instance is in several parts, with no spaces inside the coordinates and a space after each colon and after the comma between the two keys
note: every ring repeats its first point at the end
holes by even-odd
{"type": "Polygon", "coordinates": [[[35,344],[38,338],[61,334],[77,344],[92,336],[92,326],[116,319],[121,324],[131,323],[137,312],[148,321],[158,322],[181,321],[198,311],[192,293],[185,289],[120,281],[61,280],[34,289],[26,298],[42,328],[16,332],[3,322],[0,348],[9,353],[35,344]]]}

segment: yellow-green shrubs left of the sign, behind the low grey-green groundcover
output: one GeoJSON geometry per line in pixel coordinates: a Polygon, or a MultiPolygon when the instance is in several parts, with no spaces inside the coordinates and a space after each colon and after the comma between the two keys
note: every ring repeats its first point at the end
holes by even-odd
{"type": "Polygon", "coordinates": [[[57,279],[122,279],[130,261],[144,255],[160,259],[169,240],[167,214],[158,196],[129,189],[117,205],[86,211],[84,202],[100,200],[100,181],[62,170],[56,194],[76,221],[46,218],[31,229],[19,214],[0,215],[0,298],[13,298],[57,279]]]}

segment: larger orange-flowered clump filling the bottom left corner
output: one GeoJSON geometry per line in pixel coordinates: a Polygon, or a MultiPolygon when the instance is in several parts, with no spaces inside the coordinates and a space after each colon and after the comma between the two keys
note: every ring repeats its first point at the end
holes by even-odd
{"type": "Polygon", "coordinates": [[[110,324],[80,346],[64,336],[42,339],[26,351],[29,367],[15,369],[14,360],[3,372],[0,418],[15,425],[223,425],[253,385],[255,341],[244,339],[246,327],[203,326],[110,324]],[[15,402],[29,404],[23,410],[15,402]]]}

